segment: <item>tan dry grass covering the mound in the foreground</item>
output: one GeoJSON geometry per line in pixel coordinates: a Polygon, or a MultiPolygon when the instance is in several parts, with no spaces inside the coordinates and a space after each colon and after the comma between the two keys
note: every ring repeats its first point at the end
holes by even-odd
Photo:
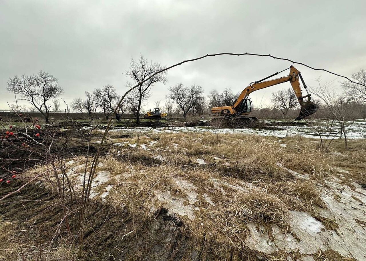
{"type": "MultiPolygon", "coordinates": [[[[263,227],[268,236],[274,225],[288,232],[289,210],[309,212],[326,229],[337,229],[334,220],[317,215],[316,209],[325,205],[316,184],[336,173],[334,167],[345,170],[353,167],[360,177],[365,166],[362,144],[342,151],[342,155],[333,155],[332,151],[317,150],[315,143],[302,137],[283,139],[287,147],[280,147],[272,137],[243,134],[126,136],[124,132],[111,132],[108,138],[113,143],[138,144],[136,148],[111,146],[111,154],[101,157],[96,169],[97,173],[108,173],[109,179],[94,187],[94,192],[101,195],[107,186],[112,186],[106,200],[111,208],[123,209],[131,220],[133,232],[128,238],[142,237],[149,241],[147,224],[154,224],[162,209],[167,209],[175,222],[183,222],[182,237],[189,238],[193,249],[199,249],[202,257],[214,252],[221,260],[240,260],[246,254],[253,260],[257,258],[260,253],[246,245],[250,234],[248,224],[258,230],[263,227]],[[141,144],[146,144],[149,150],[143,150],[141,144]],[[161,157],[156,158],[157,155],[161,157]],[[340,158],[350,158],[352,164],[340,158]],[[198,164],[197,159],[205,160],[206,164],[198,164]],[[279,163],[300,174],[309,174],[310,179],[295,178],[279,163]],[[177,202],[184,211],[175,205],[177,202]]],[[[66,171],[76,185],[80,181],[76,173],[83,174],[86,158],[70,160],[72,163],[66,171]]],[[[46,169],[38,166],[27,175],[32,177],[46,169]]],[[[89,170],[87,164],[86,173],[89,170]]],[[[48,182],[52,175],[41,179],[48,182]]],[[[324,255],[327,253],[319,253],[319,257],[324,255]]],[[[130,260],[141,256],[143,253],[131,255],[130,260]]],[[[279,252],[276,260],[285,260],[287,256],[279,252]]]]}

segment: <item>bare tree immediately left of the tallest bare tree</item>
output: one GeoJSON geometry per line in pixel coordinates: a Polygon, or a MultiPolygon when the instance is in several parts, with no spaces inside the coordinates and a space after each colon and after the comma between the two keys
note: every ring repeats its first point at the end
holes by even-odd
{"type": "Polygon", "coordinates": [[[99,97],[98,107],[100,107],[105,118],[108,120],[120,97],[116,94],[115,88],[109,84],[103,86],[102,89],[95,89],[94,93],[99,97]]]}

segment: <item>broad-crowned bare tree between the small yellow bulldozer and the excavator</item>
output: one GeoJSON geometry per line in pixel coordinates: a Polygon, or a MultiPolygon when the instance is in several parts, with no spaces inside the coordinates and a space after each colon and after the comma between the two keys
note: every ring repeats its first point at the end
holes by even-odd
{"type": "Polygon", "coordinates": [[[168,88],[170,93],[166,96],[172,99],[183,111],[184,118],[187,117],[188,111],[203,98],[203,90],[201,86],[192,85],[191,87],[183,86],[182,83],[176,84],[168,88]]]}

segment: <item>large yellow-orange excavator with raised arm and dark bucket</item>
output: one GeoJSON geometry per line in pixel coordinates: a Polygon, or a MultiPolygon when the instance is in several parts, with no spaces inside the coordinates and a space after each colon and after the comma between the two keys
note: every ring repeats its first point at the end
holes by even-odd
{"type": "Polygon", "coordinates": [[[290,66],[290,68],[287,68],[287,69],[284,69],[281,72],[273,73],[272,75],[270,75],[268,77],[265,77],[261,80],[250,83],[249,86],[246,87],[240,93],[239,97],[236,99],[233,106],[213,107],[211,109],[212,114],[214,114],[215,116],[221,116],[221,117],[225,117],[225,118],[233,118],[233,117],[235,117],[236,119],[241,118],[243,123],[245,123],[246,121],[253,122],[254,120],[257,120],[257,118],[245,117],[245,115],[248,115],[252,110],[251,101],[250,101],[250,99],[247,98],[249,96],[249,94],[251,94],[253,91],[258,91],[258,90],[261,90],[261,89],[264,89],[264,88],[267,88],[270,86],[274,86],[276,84],[285,83],[285,82],[291,83],[291,86],[294,89],[295,95],[298,98],[299,103],[300,103],[300,108],[301,108],[300,113],[299,113],[299,116],[295,119],[295,121],[302,120],[303,118],[306,118],[307,116],[310,116],[311,114],[315,113],[319,109],[319,106],[316,105],[314,102],[310,101],[311,95],[309,94],[309,92],[307,92],[307,89],[306,89],[307,87],[301,76],[301,73],[292,65],[290,66]],[[277,79],[273,79],[273,80],[265,81],[266,79],[273,77],[283,71],[286,71],[287,69],[290,69],[290,75],[280,77],[277,79]],[[301,80],[303,87],[306,90],[307,95],[305,95],[305,96],[302,96],[299,79],[301,80]],[[307,98],[307,101],[304,101],[305,98],[307,98]]]}

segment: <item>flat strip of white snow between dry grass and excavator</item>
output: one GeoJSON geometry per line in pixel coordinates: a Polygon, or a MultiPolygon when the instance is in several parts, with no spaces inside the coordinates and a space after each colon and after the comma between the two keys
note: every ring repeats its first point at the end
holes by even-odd
{"type": "MultiPolygon", "coordinates": [[[[280,121],[278,121],[280,122],[280,121]]],[[[154,127],[139,127],[139,128],[118,128],[112,131],[129,131],[129,132],[205,132],[209,131],[214,133],[217,131],[218,133],[254,133],[260,136],[275,136],[275,137],[286,137],[286,136],[294,136],[301,135],[308,138],[319,138],[316,133],[311,129],[310,126],[307,125],[290,125],[290,126],[274,126],[277,128],[281,128],[279,130],[267,130],[267,129],[253,129],[253,128],[245,128],[245,129],[229,129],[229,128],[219,128],[215,129],[214,127],[204,126],[204,127],[165,127],[165,128],[154,128],[154,127]]],[[[328,135],[328,133],[324,134],[328,135]]],[[[337,135],[337,130],[335,132],[330,133],[330,136],[337,135]]],[[[366,139],[366,121],[356,121],[354,122],[347,131],[348,139],[366,139]]]]}

